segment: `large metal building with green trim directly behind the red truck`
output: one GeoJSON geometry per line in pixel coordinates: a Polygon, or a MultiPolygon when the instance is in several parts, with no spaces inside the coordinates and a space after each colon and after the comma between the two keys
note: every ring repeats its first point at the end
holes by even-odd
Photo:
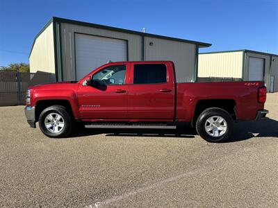
{"type": "Polygon", "coordinates": [[[33,42],[31,72],[79,80],[108,61],[172,60],[177,82],[197,79],[199,47],[211,44],[52,17],[33,42]]]}

